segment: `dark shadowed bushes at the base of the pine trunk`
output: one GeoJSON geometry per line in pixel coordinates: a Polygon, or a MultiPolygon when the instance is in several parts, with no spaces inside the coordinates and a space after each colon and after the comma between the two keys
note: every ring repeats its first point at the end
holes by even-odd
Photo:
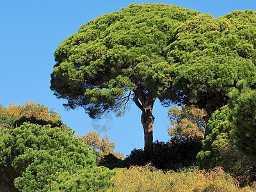
{"type": "Polygon", "coordinates": [[[196,166],[196,154],[202,149],[200,139],[195,138],[172,138],[169,142],[155,141],[153,144],[153,154],[149,156],[142,149],[134,149],[131,154],[120,161],[114,156],[106,156],[100,165],[108,168],[129,168],[130,166],[144,166],[152,163],[156,168],[167,170],[179,170],[196,166]]]}

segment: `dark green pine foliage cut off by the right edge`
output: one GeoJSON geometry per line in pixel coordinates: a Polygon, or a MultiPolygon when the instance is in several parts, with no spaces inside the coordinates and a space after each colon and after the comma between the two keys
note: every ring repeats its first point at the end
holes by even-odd
{"type": "Polygon", "coordinates": [[[236,147],[256,163],[256,90],[246,81],[239,81],[238,88],[230,93],[230,121],[236,147]]]}

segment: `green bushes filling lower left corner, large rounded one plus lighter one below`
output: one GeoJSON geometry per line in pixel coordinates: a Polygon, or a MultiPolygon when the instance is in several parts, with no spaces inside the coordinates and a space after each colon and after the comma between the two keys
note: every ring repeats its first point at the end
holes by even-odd
{"type": "Polygon", "coordinates": [[[67,125],[28,123],[0,126],[0,173],[0,188],[13,191],[95,191],[108,188],[114,174],[96,166],[92,150],[67,125]]]}

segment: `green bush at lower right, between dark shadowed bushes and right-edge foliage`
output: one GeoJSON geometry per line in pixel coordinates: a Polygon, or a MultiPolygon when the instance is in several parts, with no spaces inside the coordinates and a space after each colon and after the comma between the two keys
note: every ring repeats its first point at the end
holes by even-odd
{"type": "Polygon", "coordinates": [[[207,126],[210,134],[202,141],[203,150],[198,155],[200,168],[221,166],[244,186],[255,178],[255,164],[244,156],[234,144],[231,132],[234,125],[229,120],[230,108],[216,110],[207,126]]]}

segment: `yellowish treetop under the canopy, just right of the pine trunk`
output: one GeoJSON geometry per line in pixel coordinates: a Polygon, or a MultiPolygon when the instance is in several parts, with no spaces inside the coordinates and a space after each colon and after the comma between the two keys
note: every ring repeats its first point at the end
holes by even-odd
{"type": "Polygon", "coordinates": [[[195,106],[182,106],[182,109],[175,107],[169,109],[168,115],[170,126],[167,127],[167,131],[170,136],[204,138],[204,109],[195,106]]]}

